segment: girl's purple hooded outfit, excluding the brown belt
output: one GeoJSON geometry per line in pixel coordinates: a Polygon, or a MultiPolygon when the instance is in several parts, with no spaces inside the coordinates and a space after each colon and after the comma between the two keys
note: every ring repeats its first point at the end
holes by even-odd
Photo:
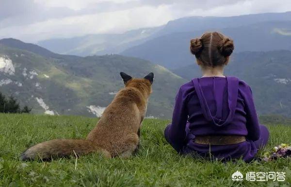
{"type": "Polygon", "coordinates": [[[165,138],[178,153],[198,153],[217,159],[251,161],[269,138],[259,124],[249,85],[236,77],[194,78],[176,96],[172,124],[165,138]],[[242,135],[246,141],[231,145],[204,145],[195,136],[242,135]]]}

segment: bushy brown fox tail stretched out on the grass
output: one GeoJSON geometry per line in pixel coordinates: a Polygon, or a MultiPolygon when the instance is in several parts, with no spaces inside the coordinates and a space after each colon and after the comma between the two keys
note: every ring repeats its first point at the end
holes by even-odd
{"type": "Polygon", "coordinates": [[[97,151],[102,152],[105,157],[111,157],[108,151],[101,149],[90,140],[54,139],[32,146],[20,155],[20,159],[23,161],[34,159],[49,160],[52,157],[82,155],[97,151]]]}

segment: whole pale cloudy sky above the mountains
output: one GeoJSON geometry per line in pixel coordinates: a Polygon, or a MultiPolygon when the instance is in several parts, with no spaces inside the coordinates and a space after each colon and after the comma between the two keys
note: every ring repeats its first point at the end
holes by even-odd
{"type": "Polygon", "coordinates": [[[291,0],[0,0],[0,38],[123,33],[189,16],[291,11],[291,0]]]}

